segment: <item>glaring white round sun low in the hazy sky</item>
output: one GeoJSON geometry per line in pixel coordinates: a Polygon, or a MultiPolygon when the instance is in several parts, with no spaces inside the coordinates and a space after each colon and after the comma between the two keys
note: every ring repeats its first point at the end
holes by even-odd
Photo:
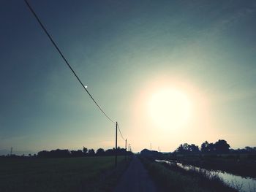
{"type": "Polygon", "coordinates": [[[171,88],[154,93],[148,107],[151,117],[162,128],[183,126],[191,115],[191,104],[187,96],[171,88]]]}

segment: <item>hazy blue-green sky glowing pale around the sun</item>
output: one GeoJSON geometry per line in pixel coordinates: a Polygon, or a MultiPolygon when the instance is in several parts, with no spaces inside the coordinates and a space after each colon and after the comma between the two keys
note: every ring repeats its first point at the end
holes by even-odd
{"type": "MultiPolygon", "coordinates": [[[[255,1],[29,2],[133,151],[256,146],[255,1]]],[[[1,153],[114,147],[25,2],[2,0],[0,23],[1,153]]]]}

